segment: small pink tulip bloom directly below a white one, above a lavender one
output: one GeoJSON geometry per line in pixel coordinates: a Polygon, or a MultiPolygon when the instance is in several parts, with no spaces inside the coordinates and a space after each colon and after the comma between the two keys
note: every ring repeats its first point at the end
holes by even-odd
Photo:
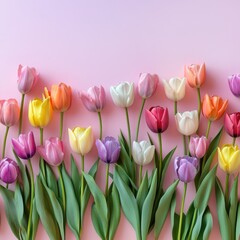
{"type": "Polygon", "coordinates": [[[202,158],[209,147],[210,141],[205,136],[191,136],[189,142],[189,151],[192,157],[202,158]]]}

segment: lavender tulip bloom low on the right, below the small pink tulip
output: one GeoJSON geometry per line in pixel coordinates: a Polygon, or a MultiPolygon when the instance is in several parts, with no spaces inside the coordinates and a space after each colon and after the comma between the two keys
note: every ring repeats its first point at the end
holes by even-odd
{"type": "Polygon", "coordinates": [[[174,161],[175,172],[180,181],[188,183],[194,180],[198,172],[199,160],[196,157],[176,157],[174,161]]]}

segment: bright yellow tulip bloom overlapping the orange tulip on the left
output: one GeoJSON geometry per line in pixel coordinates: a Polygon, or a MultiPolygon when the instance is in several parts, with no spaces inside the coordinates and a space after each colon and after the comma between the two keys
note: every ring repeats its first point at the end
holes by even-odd
{"type": "Polygon", "coordinates": [[[43,128],[52,119],[52,105],[50,97],[34,99],[29,102],[28,119],[33,127],[43,128]]]}

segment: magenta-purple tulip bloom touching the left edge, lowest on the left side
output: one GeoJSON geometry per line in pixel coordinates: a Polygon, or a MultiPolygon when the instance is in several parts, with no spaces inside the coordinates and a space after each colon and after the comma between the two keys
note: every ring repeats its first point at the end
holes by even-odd
{"type": "Polygon", "coordinates": [[[10,158],[4,158],[0,162],[0,179],[7,183],[13,183],[16,181],[19,173],[18,165],[10,158]]]}

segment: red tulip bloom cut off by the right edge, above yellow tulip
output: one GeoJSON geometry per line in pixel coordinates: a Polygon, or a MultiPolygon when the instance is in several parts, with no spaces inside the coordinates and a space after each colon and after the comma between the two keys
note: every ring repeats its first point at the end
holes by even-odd
{"type": "Polygon", "coordinates": [[[224,128],[231,137],[240,136],[240,112],[227,114],[224,118],[224,128]]]}

